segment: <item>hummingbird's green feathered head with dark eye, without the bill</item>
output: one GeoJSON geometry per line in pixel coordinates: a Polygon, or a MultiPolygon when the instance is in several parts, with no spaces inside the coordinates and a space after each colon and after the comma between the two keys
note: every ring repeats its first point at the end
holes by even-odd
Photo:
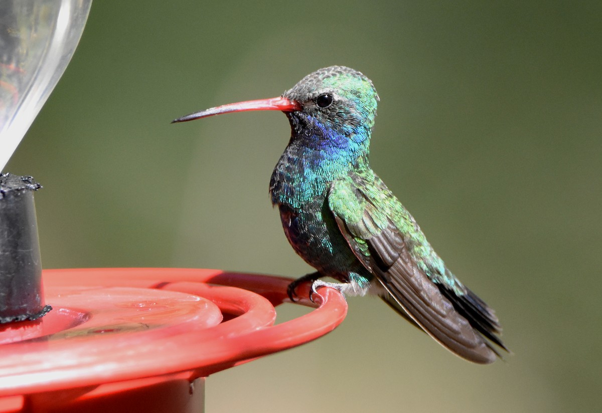
{"type": "MultiPolygon", "coordinates": [[[[374,85],[357,70],[330,66],[301,79],[282,97],[297,102],[299,111],[287,112],[293,134],[318,133],[332,139],[338,135],[367,145],[379,100],[374,85]]],[[[343,144],[337,142],[334,144],[343,144]]]]}

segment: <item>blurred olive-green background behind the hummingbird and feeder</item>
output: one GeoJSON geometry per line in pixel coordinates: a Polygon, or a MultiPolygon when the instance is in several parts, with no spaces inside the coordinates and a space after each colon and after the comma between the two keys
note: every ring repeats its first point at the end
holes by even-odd
{"type": "Polygon", "coordinates": [[[96,1],[5,171],[44,186],[45,268],[299,277],[267,196],[284,115],[170,121],[358,69],[380,94],[374,170],[514,355],[466,363],[351,298],[326,337],[211,376],[207,411],[600,411],[601,21],[599,1],[96,1]]]}

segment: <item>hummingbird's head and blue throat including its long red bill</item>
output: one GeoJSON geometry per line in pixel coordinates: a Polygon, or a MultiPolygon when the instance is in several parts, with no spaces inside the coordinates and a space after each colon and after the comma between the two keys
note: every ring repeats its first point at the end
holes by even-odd
{"type": "Polygon", "coordinates": [[[241,111],[282,111],[291,123],[291,143],[334,157],[367,156],[379,100],[362,73],[344,66],[317,70],[280,97],[217,106],[178,118],[184,122],[241,111]]]}

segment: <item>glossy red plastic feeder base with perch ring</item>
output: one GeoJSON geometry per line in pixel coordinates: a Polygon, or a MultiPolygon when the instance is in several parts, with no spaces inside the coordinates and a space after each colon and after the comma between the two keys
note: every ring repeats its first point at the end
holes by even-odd
{"type": "MultiPolygon", "coordinates": [[[[299,346],[347,313],[323,288],[278,325],[288,278],[209,269],[43,272],[39,320],[0,328],[0,413],[202,412],[205,377],[299,346]]],[[[307,291],[305,291],[307,293],[307,291]]]]}

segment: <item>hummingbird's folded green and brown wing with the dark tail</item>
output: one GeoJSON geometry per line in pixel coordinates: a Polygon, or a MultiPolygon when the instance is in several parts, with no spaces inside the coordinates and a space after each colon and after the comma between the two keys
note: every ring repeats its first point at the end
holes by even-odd
{"type": "Polygon", "coordinates": [[[492,363],[506,349],[494,311],[464,287],[433,251],[414,218],[371,170],[335,180],[330,210],[353,253],[380,281],[383,300],[447,349],[492,363]]]}

